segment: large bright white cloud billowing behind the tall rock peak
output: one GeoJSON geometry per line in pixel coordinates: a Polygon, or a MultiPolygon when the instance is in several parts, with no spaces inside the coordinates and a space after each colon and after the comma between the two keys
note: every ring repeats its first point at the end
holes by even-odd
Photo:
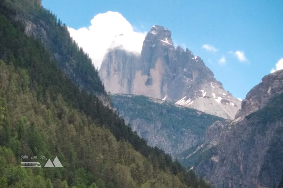
{"type": "Polygon", "coordinates": [[[98,69],[109,48],[121,47],[140,53],[146,32],[135,32],[131,24],[118,12],[97,14],[89,28],[69,28],[71,37],[89,54],[98,69]]]}

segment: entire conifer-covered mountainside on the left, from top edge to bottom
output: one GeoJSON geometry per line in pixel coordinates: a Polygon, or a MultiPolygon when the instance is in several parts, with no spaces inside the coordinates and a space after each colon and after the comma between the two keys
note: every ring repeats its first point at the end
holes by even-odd
{"type": "Polygon", "coordinates": [[[0,59],[0,187],[210,187],[103,105],[97,70],[50,11],[0,0],[0,59]],[[48,43],[19,17],[43,20],[48,43]],[[63,168],[21,168],[20,155],[57,156],[63,168]]]}

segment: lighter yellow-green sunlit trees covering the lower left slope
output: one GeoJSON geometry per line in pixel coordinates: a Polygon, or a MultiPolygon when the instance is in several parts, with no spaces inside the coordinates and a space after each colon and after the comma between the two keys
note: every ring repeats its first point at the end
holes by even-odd
{"type": "MultiPolygon", "coordinates": [[[[7,117],[4,119],[14,122],[6,144],[9,148],[0,149],[0,175],[11,187],[52,187],[50,182],[54,187],[139,187],[149,180],[152,185],[166,187],[168,178],[174,179],[178,184],[176,187],[183,186],[177,175],[184,170],[178,162],[172,163],[172,169],[167,167],[172,159],[166,158],[158,148],[154,148],[151,157],[157,159],[157,166],[161,169],[174,174],[154,168],[128,141],[118,141],[108,129],[95,125],[96,121],[92,118],[70,107],[62,96],[58,95],[55,101],[43,100],[49,101],[52,111],[48,111],[47,105],[37,99],[36,93],[32,94],[33,88],[26,90],[19,87],[20,69],[12,70],[1,62],[0,72],[3,71],[8,72],[8,82],[13,82],[17,88],[15,91],[11,91],[11,87],[0,90],[0,95],[8,99],[2,100],[6,101],[7,117]],[[9,79],[11,75],[13,78],[9,79]],[[8,93],[11,92],[15,92],[14,98],[9,98],[8,93]],[[50,118],[46,118],[48,113],[50,118]],[[50,159],[56,155],[64,168],[20,168],[21,154],[44,154],[50,159]]],[[[42,165],[46,163],[45,159],[38,161],[42,165]]]]}

